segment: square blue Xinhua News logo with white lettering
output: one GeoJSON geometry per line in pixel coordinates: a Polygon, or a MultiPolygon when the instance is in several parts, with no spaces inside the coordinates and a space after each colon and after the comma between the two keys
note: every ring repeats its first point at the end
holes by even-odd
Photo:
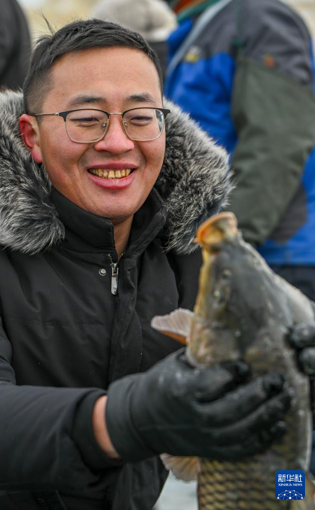
{"type": "Polygon", "coordinates": [[[305,498],[305,473],[298,469],[279,469],[275,476],[276,498],[298,500],[305,498]]]}

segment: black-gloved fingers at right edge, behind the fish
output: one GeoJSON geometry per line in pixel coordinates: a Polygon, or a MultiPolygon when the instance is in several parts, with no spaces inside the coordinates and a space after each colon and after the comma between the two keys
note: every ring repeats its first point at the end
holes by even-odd
{"type": "Polygon", "coordinates": [[[298,351],[301,370],[309,376],[310,402],[315,426],[315,322],[297,324],[290,329],[288,341],[298,351]]]}

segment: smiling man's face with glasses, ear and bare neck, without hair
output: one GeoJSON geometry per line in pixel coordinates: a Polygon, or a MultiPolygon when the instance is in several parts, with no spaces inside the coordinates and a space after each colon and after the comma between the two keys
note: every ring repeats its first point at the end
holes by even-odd
{"type": "MultiPolygon", "coordinates": [[[[49,168],[60,193],[113,222],[121,254],[133,214],[153,188],[164,158],[165,113],[155,110],[162,106],[157,69],[141,50],[94,47],[60,57],[52,66],[51,80],[41,110],[69,113],[63,119],[45,113],[23,115],[25,142],[34,160],[49,168]]],[[[36,101],[30,107],[36,108],[36,101]]]]}

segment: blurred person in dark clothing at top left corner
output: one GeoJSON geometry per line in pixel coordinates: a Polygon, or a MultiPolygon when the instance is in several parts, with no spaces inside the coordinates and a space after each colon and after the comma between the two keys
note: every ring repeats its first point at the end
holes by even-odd
{"type": "Polygon", "coordinates": [[[0,0],[0,88],[21,88],[31,58],[26,17],[16,0],[0,0]]]}

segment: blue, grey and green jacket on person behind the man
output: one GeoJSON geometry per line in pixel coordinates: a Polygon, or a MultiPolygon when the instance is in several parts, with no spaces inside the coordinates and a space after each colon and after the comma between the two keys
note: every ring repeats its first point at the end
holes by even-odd
{"type": "Polygon", "coordinates": [[[315,265],[309,32],[278,0],[221,0],[169,38],[165,95],[231,155],[232,210],[276,265],[315,265]]]}

